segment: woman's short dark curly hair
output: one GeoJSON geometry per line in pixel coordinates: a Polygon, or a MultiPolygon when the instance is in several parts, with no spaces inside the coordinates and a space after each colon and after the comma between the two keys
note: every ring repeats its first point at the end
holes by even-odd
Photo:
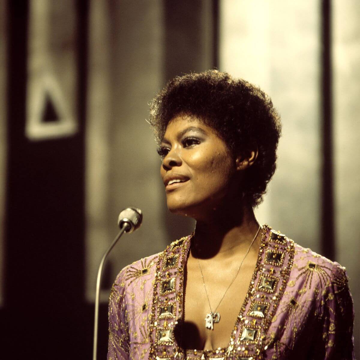
{"type": "Polygon", "coordinates": [[[168,122],[179,114],[196,116],[211,126],[234,157],[256,142],[258,157],[239,186],[252,207],[260,204],[276,168],[281,133],[280,116],[269,96],[226,72],[189,73],[169,81],[150,102],[149,123],[158,143],[168,122]]]}

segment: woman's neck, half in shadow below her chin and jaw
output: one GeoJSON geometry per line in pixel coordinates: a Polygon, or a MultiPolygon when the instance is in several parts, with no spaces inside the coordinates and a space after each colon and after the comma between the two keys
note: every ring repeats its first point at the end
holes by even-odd
{"type": "Polygon", "coordinates": [[[190,255],[214,260],[238,256],[247,251],[256,234],[253,248],[257,249],[261,239],[259,224],[251,207],[242,210],[222,209],[207,220],[197,221],[190,255]]]}

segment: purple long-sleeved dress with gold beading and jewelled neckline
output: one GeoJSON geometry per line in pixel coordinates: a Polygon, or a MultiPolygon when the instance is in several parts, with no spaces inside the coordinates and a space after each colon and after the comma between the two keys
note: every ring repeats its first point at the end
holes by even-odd
{"type": "Polygon", "coordinates": [[[264,226],[258,260],[226,348],[176,342],[192,236],[126,266],[109,300],[108,360],[355,359],[345,268],[264,226]]]}

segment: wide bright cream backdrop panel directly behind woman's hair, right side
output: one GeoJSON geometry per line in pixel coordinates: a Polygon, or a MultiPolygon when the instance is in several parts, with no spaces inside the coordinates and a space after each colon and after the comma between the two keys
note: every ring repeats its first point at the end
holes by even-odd
{"type": "Polygon", "coordinates": [[[220,69],[261,87],[282,117],[262,223],[320,251],[320,10],[313,0],[220,5],[220,69]]]}

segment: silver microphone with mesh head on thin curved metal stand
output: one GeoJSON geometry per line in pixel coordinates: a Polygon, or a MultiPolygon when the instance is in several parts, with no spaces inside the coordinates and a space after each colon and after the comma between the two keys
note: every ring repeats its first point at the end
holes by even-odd
{"type": "Polygon", "coordinates": [[[96,360],[96,352],[98,348],[100,282],[101,282],[101,275],[103,272],[105,259],[109,255],[109,252],[117,243],[117,240],[120,239],[121,235],[123,233],[132,233],[133,231],[135,231],[140,227],[142,221],[143,221],[143,213],[139,208],[127,207],[126,209],[122,210],[117,220],[117,224],[120,228],[120,232],[117,234],[114,241],[108,247],[107,251],[105,251],[103,258],[101,259],[98,270],[98,277],[96,279],[93,360],[96,360]]]}

